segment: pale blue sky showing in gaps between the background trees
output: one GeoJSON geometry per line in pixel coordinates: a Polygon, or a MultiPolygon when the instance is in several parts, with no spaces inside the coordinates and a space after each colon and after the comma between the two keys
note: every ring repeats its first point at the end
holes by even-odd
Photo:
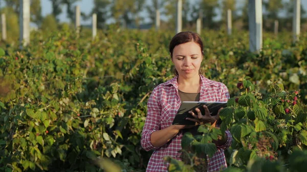
{"type": "MultiPolygon", "coordinates": [[[[128,0],[126,0],[128,1],[128,0]]],[[[189,1],[195,1],[195,0],[189,0],[189,1]]],[[[219,0],[221,1],[221,0],[219,0]]],[[[243,4],[245,0],[237,0],[237,5],[243,4]]],[[[292,1],[292,0],[290,0],[292,1]]],[[[81,12],[84,12],[85,14],[90,14],[93,7],[94,7],[94,0],[82,0],[76,3],[76,5],[79,5],[81,12]]],[[[149,3],[148,0],[146,0],[146,3],[149,3]]],[[[307,9],[307,0],[301,0],[301,5],[304,9],[307,9]]],[[[50,0],[41,0],[41,7],[42,7],[42,16],[46,16],[52,12],[52,6],[50,0]]],[[[63,12],[59,15],[59,19],[61,22],[69,22],[69,19],[67,17],[66,7],[62,7],[63,12]]],[[[146,12],[141,13],[142,16],[145,16],[147,19],[145,22],[150,21],[150,19],[147,17],[148,14],[146,12]]],[[[282,14],[281,14],[282,15],[282,14]]],[[[161,19],[164,19],[165,17],[161,16],[161,19]]],[[[220,19],[221,16],[217,16],[215,19],[220,19]]],[[[108,20],[108,22],[112,22],[112,20],[108,20]]],[[[89,20],[81,20],[82,24],[90,24],[91,19],[89,20]]]]}

